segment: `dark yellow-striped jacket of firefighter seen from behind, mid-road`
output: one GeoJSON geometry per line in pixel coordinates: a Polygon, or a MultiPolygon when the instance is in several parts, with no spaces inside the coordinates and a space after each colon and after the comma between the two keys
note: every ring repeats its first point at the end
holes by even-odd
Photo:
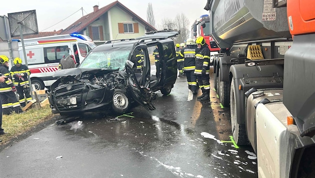
{"type": "Polygon", "coordinates": [[[181,57],[184,58],[183,70],[194,70],[195,69],[195,51],[194,45],[187,45],[180,51],[181,57]]]}

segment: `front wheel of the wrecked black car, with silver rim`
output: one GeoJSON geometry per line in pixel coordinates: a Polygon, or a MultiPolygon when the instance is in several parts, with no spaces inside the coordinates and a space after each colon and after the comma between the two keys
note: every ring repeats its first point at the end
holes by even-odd
{"type": "Polygon", "coordinates": [[[131,102],[126,92],[122,89],[115,89],[112,95],[112,109],[116,113],[125,113],[129,110],[131,102]]]}

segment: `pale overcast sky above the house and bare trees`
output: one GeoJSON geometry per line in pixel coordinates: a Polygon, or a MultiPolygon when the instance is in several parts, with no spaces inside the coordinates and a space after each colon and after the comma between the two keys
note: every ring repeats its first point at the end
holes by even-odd
{"type": "MultiPolygon", "coordinates": [[[[39,31],[65,29],[71,23],[93,11],[94,5],[99,8],[115,0],[5,0],[1,3],[0,15],[7,13],[36,10],[39,31]],[[81,7],[83,10],[80,10],[81,7]],[[60,22],[61,21],[61,22],[60,22]]],[[[155,24],[160,25],[163,18],[174,19],[176,14],[184,13],[189,24],[208,11],[203,7],[206,0],[118,0],[124,6],[146,21],[146,9],[149,2],[153,7],[155,24]]]]}

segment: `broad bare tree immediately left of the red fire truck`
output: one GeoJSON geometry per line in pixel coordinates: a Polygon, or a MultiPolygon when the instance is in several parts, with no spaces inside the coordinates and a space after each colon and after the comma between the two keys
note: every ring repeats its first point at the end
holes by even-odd
{"type": "Polygon", "coordinates": [[[180,34],[176,37],[175,42],[181,43],[189,36],[189,20],[184,13],[177,14],[174,20],[174,27],[180,30],[180,34]]]}

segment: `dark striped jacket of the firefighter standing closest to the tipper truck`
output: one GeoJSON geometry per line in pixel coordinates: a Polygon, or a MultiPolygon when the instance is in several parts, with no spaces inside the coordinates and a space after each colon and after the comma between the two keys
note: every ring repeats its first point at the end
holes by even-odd
{"type": "Polygon", "coordinates": [[[195,55],[196,57],[196,68],[194,73],[201,75],[202,69],[205,69],[205,73],[209,74],[209,63],[210,63],[210,49],[206,44],[201,46],[200,50],[195,55]]]}

